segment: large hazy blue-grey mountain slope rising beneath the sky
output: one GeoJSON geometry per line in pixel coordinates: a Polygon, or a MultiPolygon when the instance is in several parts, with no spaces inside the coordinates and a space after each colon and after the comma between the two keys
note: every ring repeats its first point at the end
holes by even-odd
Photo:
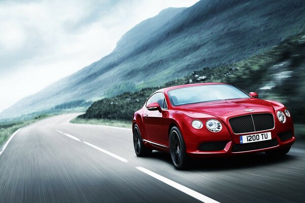
{"type": "Polygon", "coordinates": [[[301,0],[202,0],[186,9],[166,9],[128,31],[111,54],[21,99],[0,118],[158,86],[261,53],[303,30],[301,0]]]}

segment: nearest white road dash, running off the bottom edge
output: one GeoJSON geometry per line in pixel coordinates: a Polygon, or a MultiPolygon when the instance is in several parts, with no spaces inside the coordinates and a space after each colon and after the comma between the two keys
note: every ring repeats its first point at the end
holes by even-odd
{"type": "Polygon", "coordinates": [[[156,174],[152,171],[149,171],[146,168],[143,168],[141,166],[137,166],[136,168],[137,168],[137,170],[139,170],[139,171],[141,171],[141,172],[143,172],[143,173],[145,173],[145,174],[147,174],[151,177],[154,177],[154,178],[158,179],[159,181],[162,181],[163,183],[165,183],[169,186],[172,186],[173,188],[176,188],[177,190],[180,190],[181,192],[184,192],[184,193],[186,193],[186,194],[188,194],[188,195],[190,195],[190,196],[192,196],[192,197],[194,197],[194,198],[196,198],[196,199],[198,199],[202,202],[205,202],[205,203],[219,203],[218,201],[216,201],[214,199],[211,199],[211,198],[209,198],[209,197],[207,197],[203,194],[200,194],[199,192],[196,192],[196,191],[194,191],[194,190],[192,190],[192,189],[190,189],[186,186],[180,185],[179,183],[176,183],[172,180],[169,180],[169,179],[167,179],[163,176],[160,176],[159,174],[156,174]]]}

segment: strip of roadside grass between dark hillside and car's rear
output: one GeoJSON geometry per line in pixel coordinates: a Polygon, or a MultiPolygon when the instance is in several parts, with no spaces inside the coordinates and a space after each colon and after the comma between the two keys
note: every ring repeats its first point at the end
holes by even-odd
{"type": "Polygon", "coordinates": [[[131,121],[128,120],[115,120],[115,119],[83,119],[76,117],[70,123],[78,124],[91,124],[91,125],[108,125],[115,127],[131,128],[131,121]]]}

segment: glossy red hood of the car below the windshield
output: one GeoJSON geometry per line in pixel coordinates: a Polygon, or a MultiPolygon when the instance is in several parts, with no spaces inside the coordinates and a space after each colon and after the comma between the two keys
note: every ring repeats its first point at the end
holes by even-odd
{"type": "Polygon", "coordinates": [[[209,101],[206,103],[185,105],[179,109],[218,117],[274,111],[272,105],[268,103],[268,101],[258,98],[209,101]]]}

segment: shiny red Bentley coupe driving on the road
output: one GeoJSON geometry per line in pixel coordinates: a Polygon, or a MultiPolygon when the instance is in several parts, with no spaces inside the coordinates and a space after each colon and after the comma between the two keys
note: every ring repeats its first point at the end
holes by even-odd
{"type": "Polygon", "coordinates": [[[284,155],[295,141],[287,108],[224,83],[160,89],[134,114],[137,156],[169,152],[176,168],[190,158],[266,152],[284,155]]]}

